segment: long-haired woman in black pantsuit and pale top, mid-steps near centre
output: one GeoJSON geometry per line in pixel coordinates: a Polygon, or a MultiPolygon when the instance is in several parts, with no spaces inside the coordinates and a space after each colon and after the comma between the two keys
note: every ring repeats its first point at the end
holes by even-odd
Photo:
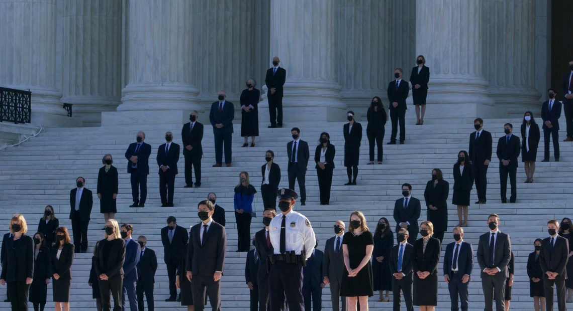
{"type": "Polygon", "coordinates": [[[330,135],[323,131],[320,133],[320,145],[316,146],[315,151],[315,169],[319,178],[320,205],[328,205],[330,202],[335,153],[336,149],[330,143],[330,135]]]}

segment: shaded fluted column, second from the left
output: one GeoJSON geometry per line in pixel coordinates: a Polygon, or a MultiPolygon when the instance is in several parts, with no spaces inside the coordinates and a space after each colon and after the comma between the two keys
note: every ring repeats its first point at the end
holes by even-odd
{"type": "Polygon", "coordinates": [[[62,102],[84,125],[99,125],[121,97],[121,1],[62,3],[62,102]]]}

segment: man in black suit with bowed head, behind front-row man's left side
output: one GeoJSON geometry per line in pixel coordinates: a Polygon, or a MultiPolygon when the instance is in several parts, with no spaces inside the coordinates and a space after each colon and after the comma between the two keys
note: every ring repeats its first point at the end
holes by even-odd
{"type": "Polygon", "coordinates": [[[161,229],[163,260],[167,266],[167,277],[169,278],[169,298],[165,301],[175,301],[177,296],[175,275],[183,256],[183,245],[187,244],[187,241],[189,241],[187,230],[177,225],[177,219],[174,216],[167,217],[167,226],[161,229]]]}

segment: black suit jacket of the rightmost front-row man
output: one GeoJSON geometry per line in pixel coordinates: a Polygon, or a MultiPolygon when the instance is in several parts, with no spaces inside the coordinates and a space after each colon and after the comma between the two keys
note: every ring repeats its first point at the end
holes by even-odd
{"type": "Polygon", "coordinates": [[[550,247],[551,238],[547,237],[541,241],[541,252],[539,252],[539,264],[543,273],[556,272],[559,276],[567,278],[567,266],[569,254],[569,241],[561,236],[556,236],[553,249],[550,247]]]}

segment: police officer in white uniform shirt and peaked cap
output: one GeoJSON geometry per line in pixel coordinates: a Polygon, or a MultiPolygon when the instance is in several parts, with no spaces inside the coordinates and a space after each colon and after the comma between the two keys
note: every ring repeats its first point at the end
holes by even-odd
{"type": "Polygon", "coordinates": [[[303,266],[315,248],[315,232],[303,214],[292,210],[299,197],[291,189],[277,192],[281,214],[270,221],[270,244],[273,254],[269,273],[271,310],[283,310],[286,304],[291,311],[303,311],[303,266]]]}

